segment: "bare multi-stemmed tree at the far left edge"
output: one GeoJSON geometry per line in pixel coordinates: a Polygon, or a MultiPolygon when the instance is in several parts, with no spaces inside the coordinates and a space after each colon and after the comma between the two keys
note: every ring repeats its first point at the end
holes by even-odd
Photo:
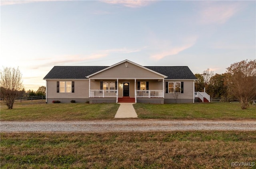
{"type": "Polygon", "coordinates": [[[1,99],[8,109],[12,109],[19,91],[23,89],[22,75],[19,68],[4,68],[0,76],[1,99]]]}

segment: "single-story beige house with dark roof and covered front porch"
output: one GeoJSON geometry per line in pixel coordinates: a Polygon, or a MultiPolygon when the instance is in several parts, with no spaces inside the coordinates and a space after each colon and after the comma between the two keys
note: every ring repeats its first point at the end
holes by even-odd
{"type": "Polygon", "coordinates": [[[188,66],[54,66],[44,77],[46,103],[194,103],[197,80],[188,66]]]}

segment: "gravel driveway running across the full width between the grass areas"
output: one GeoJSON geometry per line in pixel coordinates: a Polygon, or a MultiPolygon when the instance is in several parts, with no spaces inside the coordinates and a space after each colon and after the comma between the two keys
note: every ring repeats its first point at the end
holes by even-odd
{"type": "Polygon", "coordinates": [[[94,121],[1,121],[1,132],[256,131],[256,121],[117,119],[94,121]]]}

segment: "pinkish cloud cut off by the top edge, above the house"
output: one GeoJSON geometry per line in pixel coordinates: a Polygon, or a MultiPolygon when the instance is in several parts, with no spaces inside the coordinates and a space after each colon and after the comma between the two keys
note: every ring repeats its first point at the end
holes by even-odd
{"type": "Polygon", "coordinates": [[[102,2],[108,4],[118,4],[128,8],[140,8],[151,4],[151,0],[103,0],[102,2]]]}

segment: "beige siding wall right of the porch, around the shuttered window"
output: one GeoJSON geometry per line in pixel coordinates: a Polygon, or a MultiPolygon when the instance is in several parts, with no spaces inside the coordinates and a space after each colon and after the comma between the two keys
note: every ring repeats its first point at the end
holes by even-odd
{"type": "MultiPolygon", "coordinates": [[[[183,93],[180,93],[178,99],[194,99],[193,93],[193,80],[164,80],[164,82],[184,82],[183,84],[183,93]]],[[[165,86],[165,84],[164,84],[165,86]]],[[[164,89],[164,98],[165,99],[174,99],[174,93],[165,93],[164,89]]]]}

